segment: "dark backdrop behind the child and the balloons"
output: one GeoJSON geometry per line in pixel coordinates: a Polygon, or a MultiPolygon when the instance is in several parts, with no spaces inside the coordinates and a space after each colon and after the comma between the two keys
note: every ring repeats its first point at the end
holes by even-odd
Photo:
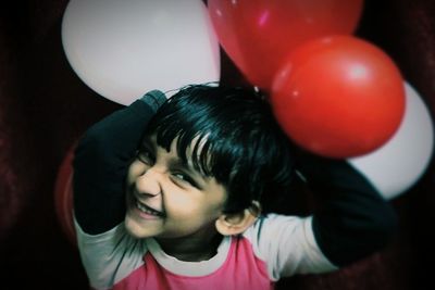
{"type": "MultiPolygon", "coordinates": [[[[1,289],[87,289],[76,248],[54,210],[59,168],[94,122],[120,109],[72,71],[61,43],[66,0],[0,9],[1,289]]],[[[435,110],[435,1],[366,0],[357,36],[387,52],[435,110]]],[[[244,78],[223,55],[222,81],[244,78]]],[[[407,166],[403,164],[403,166],[407,166]]],[[[387,249],[337,273],[286,279],[279,289],[428,289],[433,282],[435,168],[393,200],[400,218],[387,249]]]]}

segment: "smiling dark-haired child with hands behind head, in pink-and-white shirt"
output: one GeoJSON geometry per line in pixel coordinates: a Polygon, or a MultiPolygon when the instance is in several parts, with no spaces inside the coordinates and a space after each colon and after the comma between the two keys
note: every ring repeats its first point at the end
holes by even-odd
{"type": "Polygon", "coordinates": [[[241,88],[147,93],[86,133],[73,185],[95,289],[273,289],[373,253],[396,226],[359,173],[297,149],[268,102],[241,88]],[[262,201],[291,194],[295,168],[324,205],[261,214],[262,201]]]}

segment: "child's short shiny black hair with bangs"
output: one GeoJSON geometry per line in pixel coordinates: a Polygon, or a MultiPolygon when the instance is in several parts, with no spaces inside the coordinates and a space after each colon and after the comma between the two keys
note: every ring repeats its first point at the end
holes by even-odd
{"type": "Polygon", "coordinates": [[[227,192],[225,213],[285,193],[294,174],[291,146],[268,100],[253,89],[191,85],[172,96],[151,118],[146,136],[213,176],[227,192]],[[196,139],[198,138],[198,139],[196,139]],[[194,139],[196,140],[192,143],[194,139]]]}

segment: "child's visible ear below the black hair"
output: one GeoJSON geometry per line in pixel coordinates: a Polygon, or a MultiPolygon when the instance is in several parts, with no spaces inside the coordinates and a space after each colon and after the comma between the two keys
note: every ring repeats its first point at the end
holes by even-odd
{"type": "Polygon", "coordinates": [[[233,236],[244,232],[257,220],[261,206],[258,201],[235,214],[222,214],[215,223],[217,231],[223,236],[233,236]]]}

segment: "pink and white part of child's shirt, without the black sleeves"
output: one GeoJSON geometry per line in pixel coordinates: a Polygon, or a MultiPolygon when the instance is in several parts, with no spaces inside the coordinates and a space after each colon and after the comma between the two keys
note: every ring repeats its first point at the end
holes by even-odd
{"type": "Polygon", "coordinates": [[[76,225],[78,248],[95,289],[266,290],[284,276],[336,269],[320,251],[311,217],[270,214],[240,236],[224,237],[208,261],[167,255],[154,239],[135,239],[124,224],[96,236],[76,225]]]}

